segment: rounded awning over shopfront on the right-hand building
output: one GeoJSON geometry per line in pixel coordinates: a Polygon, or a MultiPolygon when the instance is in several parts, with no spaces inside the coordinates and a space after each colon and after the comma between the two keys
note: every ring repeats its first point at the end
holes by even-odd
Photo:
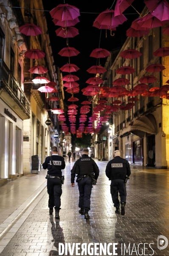
{"type": "Polygon", "coordinates": [[[130,127],[130,131],[133,134],[142,138],[144,137],[145,132],[148,134],[158,133],[155,117],[152,114],[141,116],[140,118],[135,119],[130,127]]]}

